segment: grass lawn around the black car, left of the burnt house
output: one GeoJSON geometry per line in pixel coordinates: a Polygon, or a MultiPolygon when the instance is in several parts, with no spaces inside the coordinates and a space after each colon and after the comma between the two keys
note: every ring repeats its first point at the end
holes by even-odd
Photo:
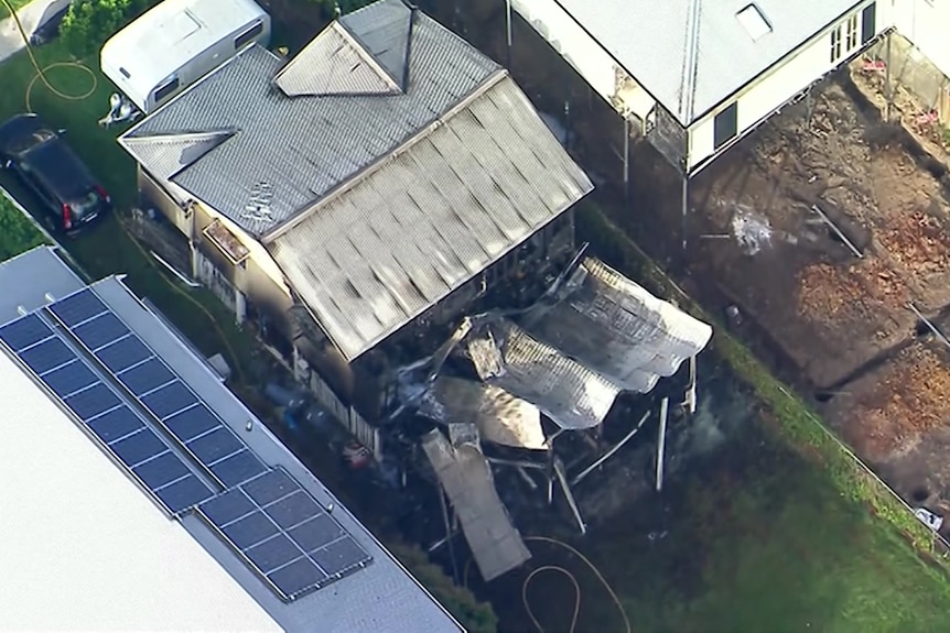
{"type": "MultiPolygon", "coordinates": [[[[72,62],[58,42],[39,47],[34,53],[43,66],[72,62]]],[[[91,75],[75,66],[55,66],[46,70],[46,77],[57,90],[76,96],[89,92],[95,77],[95,89],[87,98],[63,99],[36,80],[30,90],[30,109],[51,125],[67,130],[69,145],[112,195],[118,212],[126,214],[136,201],[136,171],[133,161],[116,143],[116,137],[125,128],[106,130],[97,124],[108,110],[109,95],[115,88],[99,73],[97,59],[87,61],[86,66],[91,75]]],[[[0,91],[0,120],[28,111],[26,91],[35,76],[35,69],[25,53],[0,65],[0,84],[3,86],[0,91]]],[[[34,200],[18,183],[7,178],[3,184],[24,206],[35,208],[34,200]]],[[[228,356],[218,329],[209,323],[206,312],[209,313],[227,337],[234,356],[239,358],[242,365],[238,368],[239,371],[250,364],[250,343],[234,326],[233,315],[205,291],[184,291],[179,285],[170,284],[162,270],[129,238],[117,218],[106,218],[79,238],[67,240],[65,245],[94,279],[128,274],[129,285],[154,302],[203,352],[223,352],[228,356]],[[193,301],[186,299],[183,293],[193,301]]],[[[234,362],[234,359],[229,360],[234,362]]]]}

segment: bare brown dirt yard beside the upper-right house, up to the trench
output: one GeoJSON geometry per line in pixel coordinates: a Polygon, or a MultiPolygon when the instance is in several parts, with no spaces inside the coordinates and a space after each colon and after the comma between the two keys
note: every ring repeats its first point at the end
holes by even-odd
{"type": "Polygon", "coordinates": [[[940,182],[899,129],[838,84],[720,157],[691,203],[691,268],[708,269],[817,386],[906,339],[916,320],[908,302],[925,312],[950,303],[940,182]]]}

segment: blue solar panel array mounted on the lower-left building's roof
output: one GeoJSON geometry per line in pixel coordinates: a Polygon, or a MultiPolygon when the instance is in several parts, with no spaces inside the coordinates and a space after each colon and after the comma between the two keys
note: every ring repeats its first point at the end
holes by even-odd
{"type": "Polygon", "coordinates": [[[198,508],[284,600],[371,560],[300,483],[265,466],[90,288],[0,327],[0,340],[171,514],[198,508]],[[66,345],[62,330],[101,367],[66,345]],[[100,374],[112,374],[128,393],[100,374]],[[127,400],[154,419],[147,422],[127,400]]]}

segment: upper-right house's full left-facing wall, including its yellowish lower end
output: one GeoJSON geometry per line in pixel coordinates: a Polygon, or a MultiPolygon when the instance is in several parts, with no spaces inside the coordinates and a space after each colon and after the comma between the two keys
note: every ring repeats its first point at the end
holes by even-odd
{"type": "Polygon", "coordinates": [[[511,9],[622,114],[640,119],[655,101],[554,0],[511,0],[511,9]]]}

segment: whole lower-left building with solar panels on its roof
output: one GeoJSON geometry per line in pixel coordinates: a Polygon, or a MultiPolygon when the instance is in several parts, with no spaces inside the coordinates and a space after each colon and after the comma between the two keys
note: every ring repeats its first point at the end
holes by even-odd
{"type": "Polygon", "coordinates": [[[0,630],[462,631],[120,279],[0,287],[0,630]]]}

